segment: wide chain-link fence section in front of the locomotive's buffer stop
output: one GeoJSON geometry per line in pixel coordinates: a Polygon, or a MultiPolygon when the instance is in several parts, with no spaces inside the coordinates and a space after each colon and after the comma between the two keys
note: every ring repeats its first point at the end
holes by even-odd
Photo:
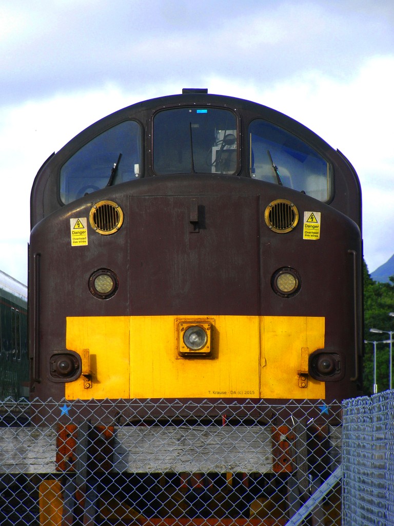
{"type": "Polygon", "coordinates": [[[341,523],[341,406],[0,404],[0,524],[341,523]]]}

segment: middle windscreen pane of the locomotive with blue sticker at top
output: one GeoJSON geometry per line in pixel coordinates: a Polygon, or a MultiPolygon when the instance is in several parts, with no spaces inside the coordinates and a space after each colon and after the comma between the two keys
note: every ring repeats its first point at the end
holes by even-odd
{"type": "Polygon", "coordinates": [[[234,174],[236,117],[217,108],[177,108],[153,119],[153,170],[164,174],[234,174]]]}

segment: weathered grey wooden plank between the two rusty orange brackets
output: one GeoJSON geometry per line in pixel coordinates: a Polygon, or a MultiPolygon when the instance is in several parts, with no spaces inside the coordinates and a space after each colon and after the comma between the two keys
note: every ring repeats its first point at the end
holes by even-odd
{"type": "Polygon", "coordinates": [[[119,428],[117,471],[236,472],[272,470],[271,427],[119,428]]]}

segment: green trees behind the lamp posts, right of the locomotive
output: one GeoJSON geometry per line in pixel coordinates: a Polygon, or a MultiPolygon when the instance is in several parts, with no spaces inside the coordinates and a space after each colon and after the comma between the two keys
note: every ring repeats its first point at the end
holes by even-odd
{"type": "MultiPolygon", "coordinates": [[[[368,341],[377,341],[376,345],[376,383],[378,392],[389,388],[389,340],[390,335],[370,332],[370,328],[384,331],[394,331],[394,317],[389,316],[394,312],[394,277],[389,283],[374,281],[364,262],[364,337],[368,341]]],[[[394,355],[394,352],[393,352],[394,355]]],[[[394,361],[394,356],[393,356],[394,361]]],[[[365,343],[363,365],[364,393],[370,395],[374,386],[374,344],[365,343]]],[[[394,385],[394,370],[393,370],[394,385]]]]}

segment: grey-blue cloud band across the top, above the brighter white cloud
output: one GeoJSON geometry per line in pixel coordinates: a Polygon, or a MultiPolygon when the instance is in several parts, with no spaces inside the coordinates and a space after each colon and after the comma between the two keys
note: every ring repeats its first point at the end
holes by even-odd
{"type": "Polygon", "coordinates": [[[13,31],[0,56],[3,104],[107,82],[131,90],[231,73],[268,87],[311,69],[348,78],[366,54],[392,49],[388,8],[376,4],[6,2],[13,31]]]}

